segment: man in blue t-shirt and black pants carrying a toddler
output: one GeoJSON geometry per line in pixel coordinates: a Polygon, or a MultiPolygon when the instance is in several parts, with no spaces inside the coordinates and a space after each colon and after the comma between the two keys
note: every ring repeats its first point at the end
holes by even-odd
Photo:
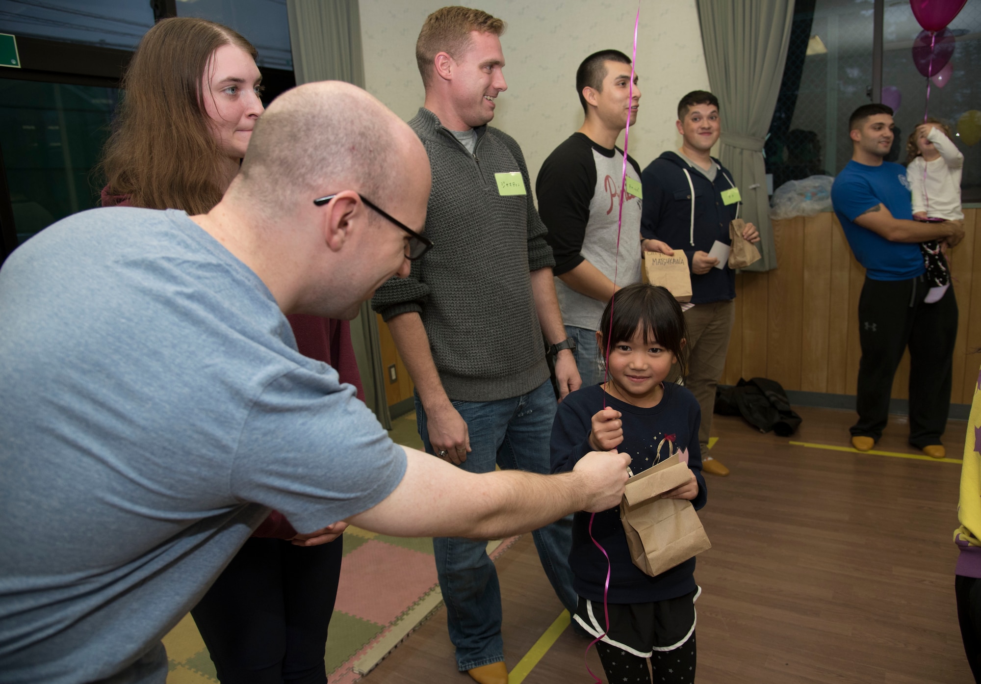
{"type": "Polygon", "coordinates": [[[930,283],[919,243],[940,239],[954,246],[958,225],[912,220],[905,169],[884,161],[893,144],[893,110],[883,104],[856,109],[849,119],[852,161],[831,189],[835,214],[865,267],[858,300],[858,365],[852,446],[867,451],[882,437],[896,368],[909,346],[909,444],[943,458],[940,443],[951,404],[957,334],[954,289],[935,303],[923,301],[930,283]]]}

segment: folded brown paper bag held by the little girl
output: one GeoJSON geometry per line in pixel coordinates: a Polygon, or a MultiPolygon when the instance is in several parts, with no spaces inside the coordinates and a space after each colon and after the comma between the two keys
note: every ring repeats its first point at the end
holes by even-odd
{"type": "MultiPolygon", "coordinates": [[[[660,452],[661,444],[657,446],[660,452]]],[[[668,443],[668,450],[670,450],[668,443]]],[[[660,495],[691,478],[688,465],[674,453],[627,480],[620,522],[631,559],[651,577],[711,548],[692,501],[660,495]]]]}

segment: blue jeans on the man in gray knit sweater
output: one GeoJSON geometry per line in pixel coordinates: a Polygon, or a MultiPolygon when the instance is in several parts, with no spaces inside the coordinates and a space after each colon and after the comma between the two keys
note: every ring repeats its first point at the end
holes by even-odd
{"type": "MultiPolygon", "coordinates": [[[[433,453],[426,411],[419,395],[415,398],[419,436],[426,450],[433,453]]],[[[496,463],[504,470],[548,473],[548,445],[556,407],[550,382],[527,395],[496,401],[453,401],[453,407],[467,423],[473,449],[459,467],[471,473],[490,473],[496,463]]],[[[569,568],[572,515],[532,534],[545,575],[571,614],[578,604],[569,568]]],[[[487,542],[438,537],[433,540],[433,551],[457,667],[462,672],[503,660],[500,585],[487,554],[487,542]]]]}

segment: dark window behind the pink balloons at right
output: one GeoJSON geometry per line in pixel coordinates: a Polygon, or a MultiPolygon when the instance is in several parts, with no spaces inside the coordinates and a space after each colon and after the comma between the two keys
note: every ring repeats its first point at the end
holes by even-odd
{"type": "MultiPolygon", "coordinates": [[[[973,66],[981,59],[981,0],[967,0],[949,29],[955,36],[951,70],[946,82],[931,82],[929,116],[951,128],[964,153],[962,201],[978,202],[981,147],[972,148],[977,139],[958,134],[958,127],[981,133],[981,85],[973,78],[973,66]]],[[[841,172],[852,158],[849,115],[873,101],[899,104],[897,136],[888,160],[905,162],[906,139],[927,113],[927,79],[911,56],[921,30],[907,0],[797,0],[787,66],[765,147],[773,189],[788,181],[841,172]],[[882,17],[878,36],[876,11],[882,17]]]]}

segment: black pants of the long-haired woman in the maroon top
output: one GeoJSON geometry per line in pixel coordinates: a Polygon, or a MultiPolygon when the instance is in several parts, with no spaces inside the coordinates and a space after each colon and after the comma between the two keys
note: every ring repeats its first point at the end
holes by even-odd
{"type": "Polygon", "coordinates": [[[190,611],[222,684],[325,684],[343,537],[318,547],[252,537],[190,611]]]}

